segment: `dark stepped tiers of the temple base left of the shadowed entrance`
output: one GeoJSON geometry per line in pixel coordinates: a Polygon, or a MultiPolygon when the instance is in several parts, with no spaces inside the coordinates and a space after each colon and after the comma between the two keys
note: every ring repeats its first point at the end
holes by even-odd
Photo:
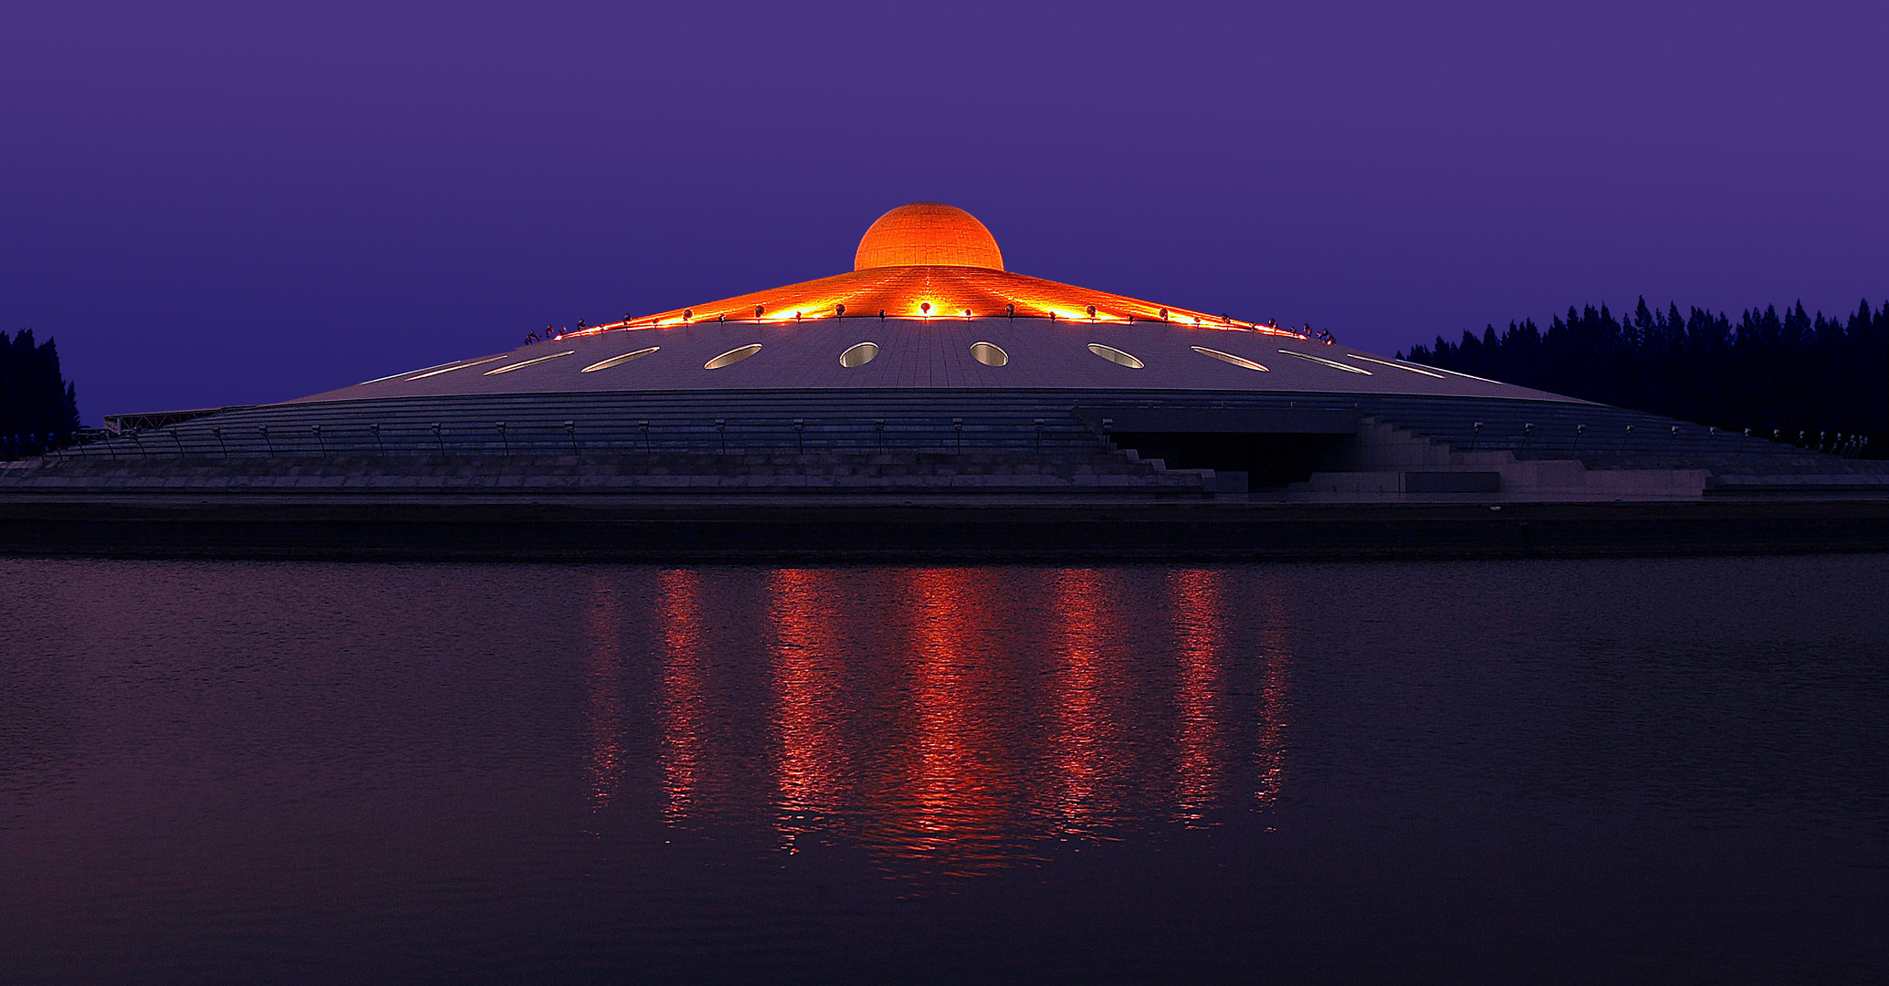
{"type": "Polygon", "coordinates": [[[1245,484],[1111,448],[1064,397],[795,391],[257,406],[17,463],[0,489],[1198,499],[1245,484]]]}

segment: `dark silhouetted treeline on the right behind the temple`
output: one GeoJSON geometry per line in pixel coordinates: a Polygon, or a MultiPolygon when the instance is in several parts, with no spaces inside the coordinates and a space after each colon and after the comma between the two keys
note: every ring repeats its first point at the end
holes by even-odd
{"type": "MultiPolygon", "coordinates": [[[[1889,304],[1872,312],[1868,300],[1847,317],[1810,315],[1798,302],[1736,323],[1704,308],[1681,315],[1677,304],[1655,312],[1645,298],[1628,317],[1570,306],[1545,332],[1534,319],[1502,334],[1490,325],[1413,346],[1409,359],[1753,434],[1889,433],[1889,304]]],[[[1885,444],[1870,442],[1872,453],[1885,444]]]]}

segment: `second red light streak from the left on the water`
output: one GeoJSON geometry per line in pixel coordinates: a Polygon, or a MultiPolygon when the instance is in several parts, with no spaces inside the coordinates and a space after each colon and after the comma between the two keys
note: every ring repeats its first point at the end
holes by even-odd
{"type": "Polygon", "coordinates": [[[663,814],[680,822],[693,807],[703,771],[701,576],[671,569],[655,586],[663,625],[663,793],[669,801],[663,814]]]}

